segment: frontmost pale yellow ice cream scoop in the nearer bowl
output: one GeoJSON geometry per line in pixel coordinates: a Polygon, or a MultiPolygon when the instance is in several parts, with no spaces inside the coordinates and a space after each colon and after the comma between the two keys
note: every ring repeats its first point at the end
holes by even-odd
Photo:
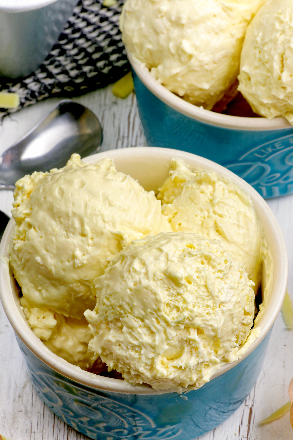
{"type": "Polygon", "coordinates": [[[199,387],[233,361],[253,323],[254,293],[219,241],[166,232],[132,242],[94,280],[89,346],[133,383],[199,387]]]}

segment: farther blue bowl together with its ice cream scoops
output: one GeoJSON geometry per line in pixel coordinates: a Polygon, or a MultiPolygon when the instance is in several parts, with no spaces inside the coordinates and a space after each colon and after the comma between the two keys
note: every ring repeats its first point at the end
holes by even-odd
{"type": "Polygon", "coordinates": [[[216,161],[264,198],[293,192],[290,1],[177,3],[127,0],[120,20],[148,145],[216,161]],[[211,111],[237,92],[239,69],[264,117],[239,116],[244,99],[236,116],[211,111]]]}

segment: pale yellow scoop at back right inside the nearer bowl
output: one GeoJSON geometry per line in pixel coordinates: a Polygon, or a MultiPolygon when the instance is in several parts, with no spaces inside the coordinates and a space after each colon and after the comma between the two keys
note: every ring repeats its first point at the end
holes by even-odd
{"type": "Polygon", "coordinates": [[[162,212],[173,231],[221,240],[243,264],[257,292],[260,277],[261,227],[249,195],[213,172],[193,171],[172,160],[170,177],[159,189],[162,212]]]}

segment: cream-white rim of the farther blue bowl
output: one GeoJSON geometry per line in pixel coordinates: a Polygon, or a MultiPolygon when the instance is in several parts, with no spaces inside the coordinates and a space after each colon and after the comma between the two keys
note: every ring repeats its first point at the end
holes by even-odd
{"type": "Polygon", "coordinates": [[[184,101],[184,99],[166,89],[166,87],[160,84],[159,81],[151,75],[148,68],[135,59],[128,50],[127,56],[137,77],[153,95],[169,107],[196,121],[208,125],[215,125],[216,127],[229,128],[231,130],[272,131],[293,128],[284,117],[275,117],[274,119],[268,120],[264,117],[230,116],[204,110],[203,108],[184,101]]]}

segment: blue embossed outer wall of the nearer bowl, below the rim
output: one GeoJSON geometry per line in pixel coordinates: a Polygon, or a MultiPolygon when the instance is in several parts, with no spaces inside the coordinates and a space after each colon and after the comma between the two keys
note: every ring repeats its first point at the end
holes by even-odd
{"type": "Polygon", "coordinates": [[[58,374],[17,337],[40,398],[68,425],[94,440],[191,440],[228,418],[250,393],[270,333],[249,356],[202,388],[163,395],[89,388],[58,374]]]}

